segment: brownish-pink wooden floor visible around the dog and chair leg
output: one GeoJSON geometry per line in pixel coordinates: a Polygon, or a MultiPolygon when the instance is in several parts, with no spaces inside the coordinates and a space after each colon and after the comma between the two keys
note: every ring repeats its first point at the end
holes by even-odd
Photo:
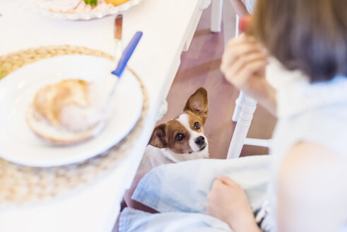
{"type": "MultiPolygon", "coordinates": [[[[210,15],[211,6],[204,11],[189,50],[181,56],[180,69],[167,95],[169,110],[160,122],[182,113],[189,95],[199,87],[206,88],[209,115],[204,129],[209,141],[209,153],[211,158],[225,158],[235,128],[231,117],[239,92],[220,73],[223,31],[210,32],[210,15]]],[[[258,106],[248,137],[271,138],[275,122],[274,117],[258,106]]],[[[245,146],[242,150],[242,156],[265,153],[268,153],[267,149],[255,146],[245,146]]]]}

